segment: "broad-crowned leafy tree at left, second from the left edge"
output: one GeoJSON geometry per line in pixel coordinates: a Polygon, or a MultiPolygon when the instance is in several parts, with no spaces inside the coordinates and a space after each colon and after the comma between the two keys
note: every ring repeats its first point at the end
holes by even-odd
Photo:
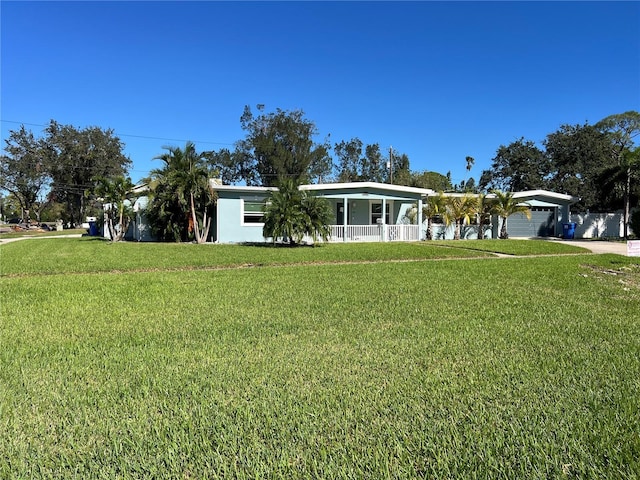
{"type": "Polygon", "coordinates": [[[51,120],[42,147],[52,179],[52,199],[66,204],[67,220],[76,225],[86,215],[87,192],[95,178],[123,176],[131,161],[113,130],[77,129],[51,120]]]}

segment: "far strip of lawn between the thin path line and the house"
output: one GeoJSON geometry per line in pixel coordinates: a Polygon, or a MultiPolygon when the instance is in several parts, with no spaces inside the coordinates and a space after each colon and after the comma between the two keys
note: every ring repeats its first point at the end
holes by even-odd
{"type": "Polygon", "coordinates": [[[585,253],[573,245],[521,240],[328,244],[311,247],[111,243],[101,238],[20,241],[0,247],[0,275],[202,269],[310,263],[409,261],[585,253]],[[524,245],[529,244],[529,247],[524,245]],[[485,248],[486,250],[482,250],[485,248]]]}

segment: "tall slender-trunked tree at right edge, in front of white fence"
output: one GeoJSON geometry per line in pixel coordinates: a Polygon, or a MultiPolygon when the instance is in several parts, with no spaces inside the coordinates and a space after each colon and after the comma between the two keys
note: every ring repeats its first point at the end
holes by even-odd
{"type": "Polygon", "coordinates": [[[611,158],[617,163],[617,169],[624,175],[624,237],[629,234],[629,209],[631,202],[631,188],[634,173],[637,169],[637,155],[634,153],[634,138],[640,135],[640,113],[628,111],[610,115],[596,125],[610,139],[613,148],[611,158]]]}

